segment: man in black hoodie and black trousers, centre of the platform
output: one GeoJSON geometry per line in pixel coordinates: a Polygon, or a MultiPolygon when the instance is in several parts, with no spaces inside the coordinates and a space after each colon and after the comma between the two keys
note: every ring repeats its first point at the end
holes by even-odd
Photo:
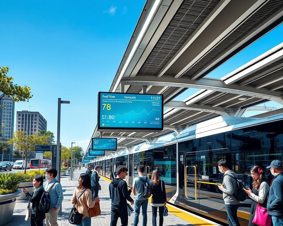
{"type": "Polygon", "coordinates": [[[124,181],[128,169],[125,166],[116,168],[116,178],[109,185],[109,194],[111,198],[111,226],[116,226],[118,218],[121,219],[121,226],[128,225],[127,200],[134,204],[131,198],[132,187],[128,190],[127,182],[124,181]]]}

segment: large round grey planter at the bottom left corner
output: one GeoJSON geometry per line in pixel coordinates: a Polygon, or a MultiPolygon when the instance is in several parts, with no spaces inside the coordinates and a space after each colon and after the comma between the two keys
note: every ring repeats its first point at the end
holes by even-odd
{"type": "Polygon", "coordinates": [[[16,198],[19,197],[21,193],[21,190],[17,190],[12,194],[0,195],[0,225],[7,224],[12,220],[16,198]]]}

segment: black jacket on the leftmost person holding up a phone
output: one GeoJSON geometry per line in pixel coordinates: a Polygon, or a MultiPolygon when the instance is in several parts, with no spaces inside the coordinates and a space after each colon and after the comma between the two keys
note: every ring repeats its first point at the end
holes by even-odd
{"type": "Polygon", "coordinates": [[[32,203],[32,214],[35,213],[34,218],[35,220],[44,220],[45,213],[38,210],[39,202],[44,192],[43,186],[38,187],[37,189],[32,192],[32,195],[29,192],[26,193],[27,200],[29,200],[29,205],[32,203]]]}

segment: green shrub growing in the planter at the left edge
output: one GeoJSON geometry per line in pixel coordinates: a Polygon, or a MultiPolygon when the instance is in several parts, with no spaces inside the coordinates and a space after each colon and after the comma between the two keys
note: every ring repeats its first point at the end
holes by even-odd
{"type": "Polygon", "coordinates": [[[21,176],[17,173],[0,174],[0,195],[16,192],[21,179],[21,176]]]}

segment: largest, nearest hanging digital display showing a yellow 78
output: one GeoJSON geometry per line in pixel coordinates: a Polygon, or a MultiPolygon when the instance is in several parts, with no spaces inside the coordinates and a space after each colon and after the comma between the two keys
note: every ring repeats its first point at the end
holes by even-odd
{"type": "Polygon", "coordinates": [[[98,93],[98,130],[163,129],[163,95],[98,93]]]}

